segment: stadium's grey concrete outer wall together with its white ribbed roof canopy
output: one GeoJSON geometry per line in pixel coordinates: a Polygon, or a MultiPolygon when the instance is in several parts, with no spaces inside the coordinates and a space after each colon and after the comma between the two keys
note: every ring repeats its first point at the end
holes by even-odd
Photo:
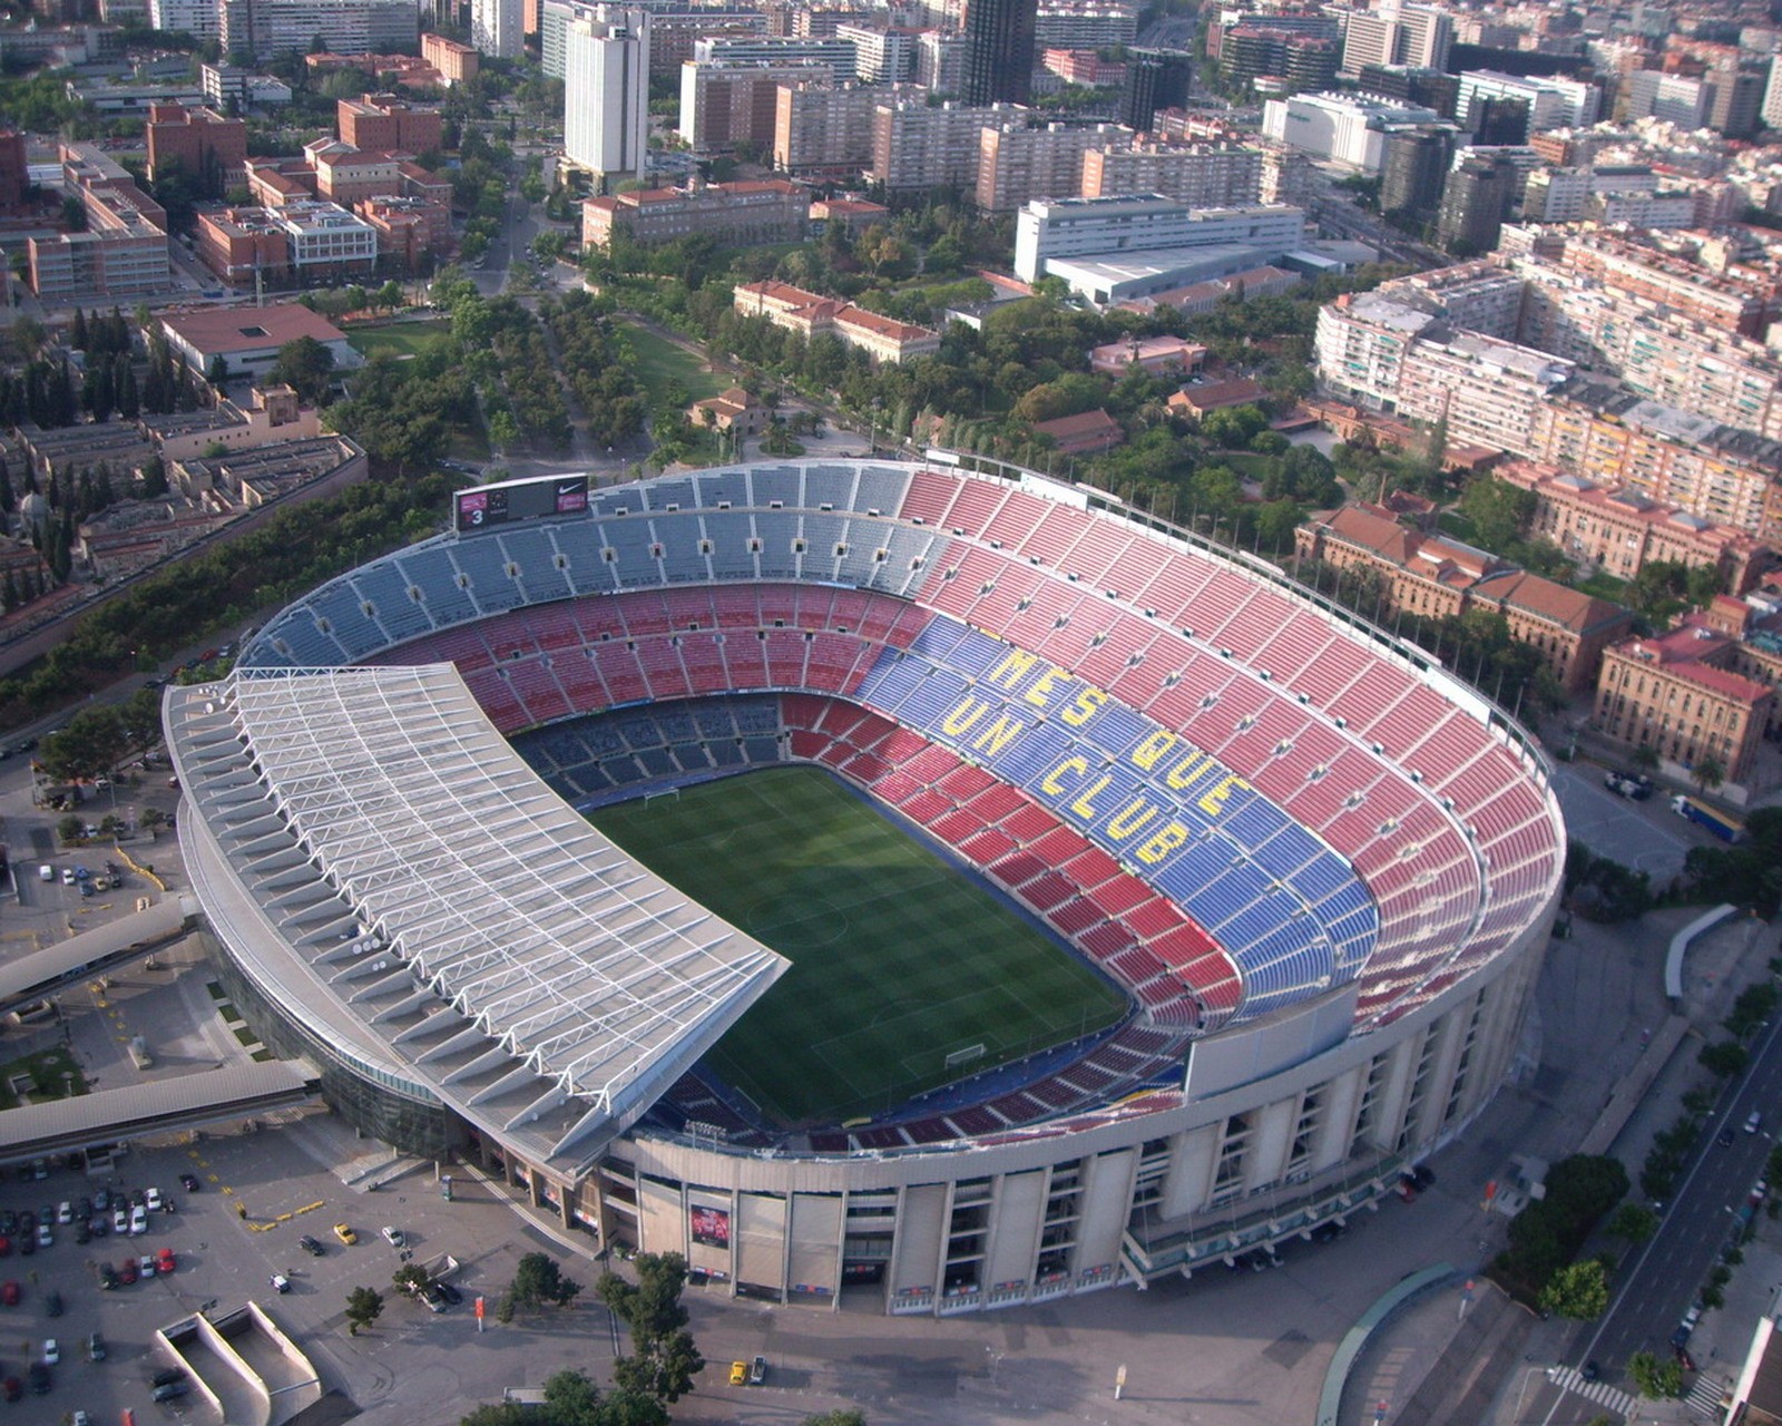
{"type": "MultiPolygon", "coordinates": [[[[269,663],[276,624],[255,645],[269,663]]],[[[907,1150],[745,1150],[638,1119],[781,959],[615,854],[454,670],[239,674],[169,690],[166,720],[217,973],[269,1045],[323,1066],[344,1116],[478,1159],[590,1248],[683,1251],[784,1301],[839,1305],[875,1280],[886,1312],[948,1314],[1142,1285],[1376,1207],[1502,1082],[1557,900],[1556,866],[1500,952],[1365,1034],[1331,1034],[1329,1007],[1353,1011],[1336,993],[1198,1041],[1176,1086],[1062,1119],[907,1150]],[[565,891],[617,911],[586,934],[554,920],[565,891]]]]}

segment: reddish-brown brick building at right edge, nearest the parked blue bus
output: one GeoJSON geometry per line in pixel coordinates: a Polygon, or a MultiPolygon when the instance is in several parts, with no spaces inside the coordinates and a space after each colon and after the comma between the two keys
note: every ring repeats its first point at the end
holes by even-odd
{"type": "Polygon", "coordinates": [[[1618,743],[1650,747],[1677,768],[1713,759],[1729,783],[1743,783],[1777,693],[1732,672],[1736,656],[1737,638],[1700,613],[1670,633],[1616,643],[1602,656],[1591,724],[1618,743]]]}

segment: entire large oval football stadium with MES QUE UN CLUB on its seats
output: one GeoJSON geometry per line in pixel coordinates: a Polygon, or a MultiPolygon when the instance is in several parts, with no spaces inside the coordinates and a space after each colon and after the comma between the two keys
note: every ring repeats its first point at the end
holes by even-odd
{"type": "Polygon", "coordinates": [[[339,1114],[884,1312],[1381,1203],[1502,1082],[1565,850],[1422,651],[946,451],[460,492],[166,725],[217,975],[339,1114]]]}

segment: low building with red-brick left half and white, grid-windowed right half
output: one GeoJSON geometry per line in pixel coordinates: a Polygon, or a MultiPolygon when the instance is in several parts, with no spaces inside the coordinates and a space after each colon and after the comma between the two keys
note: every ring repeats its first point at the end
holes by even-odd
{"type": "Polygon", "coordinates": [[[378,228],[339,203],[207,209],[198,214],[198,260],[223,282],[314,285],[362,282],[378,269],[378,228]]]}

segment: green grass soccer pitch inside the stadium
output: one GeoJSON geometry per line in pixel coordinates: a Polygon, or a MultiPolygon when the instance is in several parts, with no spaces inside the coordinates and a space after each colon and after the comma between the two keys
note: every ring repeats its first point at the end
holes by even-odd
{"type": "Polygon", "coordinates": [[[590,813],[793,964],[711,1052],[784,1127],[923,1089],[1119,1020],[1124,996],[820,768],[590,813]],[[946,1057],[984,1046],[955,1068],[946,1057]]]}

